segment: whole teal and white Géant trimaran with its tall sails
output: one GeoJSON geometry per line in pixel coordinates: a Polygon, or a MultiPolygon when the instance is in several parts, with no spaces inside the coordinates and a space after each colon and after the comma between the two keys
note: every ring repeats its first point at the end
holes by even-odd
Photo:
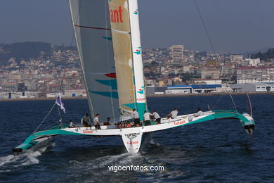
{"type": "MultiPolygon", "coordinates": [[[[130,121],[129,115],[121,111],[134,108],[143,120],[148,107],[137,0],[70,0],[70,11],[92,117],[100,113],[100,119],[109,117],[112,124],[130,121]]],[[[248,134],[253,133],[252,115],[231,110],[207,111],[198,117],[188,114],[176,119],[162,118],[157,125],[140,127],[101,125],[96,130],[83,125],[58,125],[34,132],[13,149],[13,154],[39,148],[56,135],[122,136],[126,150],[137,153],[152,132],[223,118],[238,119],[248,134]]]]}

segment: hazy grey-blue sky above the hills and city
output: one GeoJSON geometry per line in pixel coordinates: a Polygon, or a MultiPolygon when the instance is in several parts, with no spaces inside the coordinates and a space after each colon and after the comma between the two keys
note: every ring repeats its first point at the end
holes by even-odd
{"type": "MultiPolygon", "coordinates": [[[[92,0],[91,0],[92,1],[92,0]]],[[[273,0],[196,0],[216,51],[274,47],[273,0]]],[[[193,0],[139,0],[143,48],[211,51],[193,0]]],[[[1,0],[0,43],[43,41],[70,45],[67,0],[1,0]]]]}

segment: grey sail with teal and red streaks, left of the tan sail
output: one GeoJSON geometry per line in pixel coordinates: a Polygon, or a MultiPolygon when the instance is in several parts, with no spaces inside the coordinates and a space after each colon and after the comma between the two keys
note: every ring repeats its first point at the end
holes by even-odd
{"type": "MultiPolygon", "coordinates": [[[[106,0],[70,0],[91,115],[119,121],[117,80],[106,0]]],[[[77,106],[76,106],[77,107],[77,106]]]]}

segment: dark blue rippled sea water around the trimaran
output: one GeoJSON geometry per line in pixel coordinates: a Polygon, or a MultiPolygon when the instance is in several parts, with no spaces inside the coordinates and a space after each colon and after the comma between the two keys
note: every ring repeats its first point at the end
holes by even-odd
{"type": "MultiPolygon", "coordinates": [[[[148,98],[162,117],[213,107],[220,96],[148,98]]],[[[49,149],[14,157],[11,149],[37,128],[54,101],[0,102],[0,182],[274,182],[274,95],[251,95],[256,122],[249,137],[238,120],[212,120],[153,133],[147,151],[126,153],[121,137],[58,136],[49,149]],[[162,171],[117,171],[109,166],[164,166],[162,171]]],[[[249,113],[247,96],[233,96],[237,111],[249,113]]],[[[64,101],[63,123],[89,112],[85,100],[64,101]]],[[[235,110],[223,96],[214,110],[235,110]]],[[[101,113],[96,111],[96,113],[101,113]]],[[[58,124],[55,109],[43,125],[58,124]]]]}

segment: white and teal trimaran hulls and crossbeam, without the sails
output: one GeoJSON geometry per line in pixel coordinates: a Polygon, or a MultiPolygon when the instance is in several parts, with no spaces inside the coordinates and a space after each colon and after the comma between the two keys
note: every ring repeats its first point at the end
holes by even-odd
{"type": "MultiPolygon", "coordinates": [[[[254,131],[254,119],[247,113],[240,114],[236,111],[223,110],[223,111],[208,111],[204,115],[195,117],[195,114],[181,115],[176,119],[162,118],[161,123],[157,125],[148,125],[141,127],[128,127],[128,128],[116,128],[115,125],[101,126],[100,130],[96,130],[95,127],[67,127],[58,126],[53,127],[51,130],[45,130],[36,132],[13,149],[13,154],[18,155],[29,149],[33,149],[34,146],[39,145],[39,139],[46,140],[55,135],[87,135],[87,136],[122,136],[124,146],[129,153],[138,153],[142,144],[144,144],[145,138],[143,135],[152,136],[152,132],[159,130],[167,130],[174,127],[181,127],[184,125],[192,125],[197,122],[205,122],[214,119],[227,119],[233,118],[240,120],[242,127],[248,134],[252,134],[254,131]]],[[[149,139],[149,138],[148,138],[149,139]]],[[[42,142],[42,141],[41,141],[42,142]]]]}

